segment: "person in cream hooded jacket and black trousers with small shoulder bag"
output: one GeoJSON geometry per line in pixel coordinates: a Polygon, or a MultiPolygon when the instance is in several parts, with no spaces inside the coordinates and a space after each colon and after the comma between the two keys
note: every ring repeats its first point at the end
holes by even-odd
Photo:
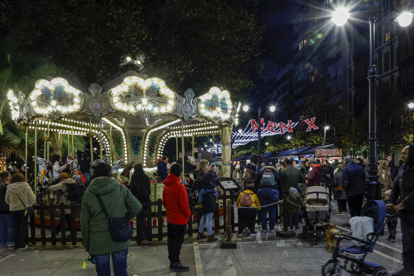
{"type": "Polygon", "coordinates": [[[29,183],[24,182],[24,176],[20,173],[13,175],[10,184],[7,185],[5,202],[10,205],[14,228],[14,250],[23,250],[26,245],[27,217],[24,211],[33,206],[36,196],[32,192],[29,183]]]}

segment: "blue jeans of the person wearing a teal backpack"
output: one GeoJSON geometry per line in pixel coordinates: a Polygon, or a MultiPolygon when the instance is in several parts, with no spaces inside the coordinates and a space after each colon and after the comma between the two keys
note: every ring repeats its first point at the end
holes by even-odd
{"type": "MultiPolygon", "coordinates": [[[[273,188],[260,188],[257,192],[260,205],[264,206],[277,202],[279,199],[279,191],[273,188]]],[[[274,230],[274,223],[276,221],[276,204],[268,207],[262,207],[259,211],[260,219],[262,220],[262,229],[267,230],[267,213],[269,212],[269,227],[274,230]]]]}

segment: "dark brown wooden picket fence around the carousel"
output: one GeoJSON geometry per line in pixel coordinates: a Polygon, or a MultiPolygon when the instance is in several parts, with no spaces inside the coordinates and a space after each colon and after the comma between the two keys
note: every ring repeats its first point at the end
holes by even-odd
{"type": "MultiPolygon", "coordinates": [[[[226,210],[226,204],[227,199],[231,200],[231,205],[235,204],[235,200],[237,200],[238,193],[231,192],[230,195],[221,195],[219,196],[219,200],[223,202],[223,210],[226,210]]],[[[188,220],[187,225],[187,234],[189,237],[193,235],[193,233],[198,232],[198,228],[193,228],[193,215],[197,214],[197,209],[194,209],[195,203],[197,202],[197,198],[191,198],[188,197],[188,201],[190,203],[190,209],[192,216],[190,216],[190,219],[188,220]]],[[[32,245],[36,245],[37,242],[41,242],[41,245],[46,245],[46,242],[51,242],[51,245],[56,245],[57,243],[60,243],[62,245],[66,245],[67,242],[70,242],[71,245],[77,245],[78,242],[82,242],[81,237],[77,237],[77,224],[79,224],[79,219],[76,219],[77,217],[80,218],[80,209],[81,204],[75,204],[71,202],[69,205],[65,205],[61,203],[60,205],[55,205],[53,203],[51,204],[44,204],[43,202],[38,205],[33,206],[36,210],[36,215],[30,217],[30,234],[29,234],[29,241],[32,245]],[[58,212],[56,212],[58,210],[58,212]],[[65,227],[65,210],[70,210],[70,230],[66,231],[65,227]],[[62,223],[60,224],[60,232],[61,236],[56,236],[56,228],[55,228],[55,218],[58,214],[57,218],[59,218],[62,223]],[[47,223],[47,217],[49,217],[50,223],[47,223]],[[36,235],[36,227],[40,226],[40,237],[36,235]],[[50,227],[50,236],[46,235],[46,228],[50,227]],[[69,238],[66,237],[66,234],[71,234],[69,238]]],[[[166,217],[166,212],[162,211],[162,199],[158,199],[157,201],[147,201],[142,202],[142,207],[144,209],[147,209],[147,212],[145,214],[145,218],[147,221],[146,224],[146,236],[148,241],[152,241],[154,238],[158,238],[158,240],[163,240],[164,237],[167,236],[166,229],[163,229],[164,223],[163,223],[163,217],[166,217]],[[150,207],[148,207],[150,206],[150,207]],[[157,206],[157,212],[152,213],[151,212],[151,206],[157,206]],[[153,227],[152,227],[152,221],[153,219],[156,219],[158,222],[157,231],[156,233],[153,233],[153,227]]],[[[142,217],[141,217],[142,219],[142,217]]],[[[200,223],[201,214],[197,215],[197,225],[200,223]]],[[[224,221],[226,221],[226,212],[223,212],[223,222],[220,223],[219,219],[219,211],[216,211],[214,213],[214,224],[213,224],[213,230],[218,233],[219,230],[224,229],[224,221]]],[[[137,217],[137,233],[139,230],[138,227],[138,217],[137,217]]],[[[234,212],[231,213],[231,230],[234,231],[234,212]]],[[[140,233],[138,233],[140,235],[140,233]]],[[[137,240],[137,235],[132,236],[132,241],[137,240]]]]}

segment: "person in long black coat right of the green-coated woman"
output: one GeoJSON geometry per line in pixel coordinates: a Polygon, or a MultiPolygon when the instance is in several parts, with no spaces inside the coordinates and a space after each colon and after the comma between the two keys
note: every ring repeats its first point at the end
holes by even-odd
{"type": "Polygon", "coordinates": [[[144,237],[147,236],[147,223],[145,222],[145,218],[148,210],[146,202],[151,196],[150,182],[148,175],[144,172],[142,163],[135,164],[134,173],[132,174],[130,182],[130,190],[142,205],[142,210],[137,215],[137,243],[142,242],[144,237]]]}

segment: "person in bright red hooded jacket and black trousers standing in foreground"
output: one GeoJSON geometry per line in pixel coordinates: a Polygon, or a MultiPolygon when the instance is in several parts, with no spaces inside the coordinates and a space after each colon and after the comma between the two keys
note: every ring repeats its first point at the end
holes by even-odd
{"type": "Polygon", "coordinates": [[[180,262],[181,245],[184,241],[185,229],[188,218],[191,216],[188,206],[187,188],[181,184],[183,167],[173,164],[170,174],[164,180],[162,192],[162,205],[167,210],[167,232],[168,232],[168,259],[170,269],[174,272],[188,271],[189,266],[183,266],[180,262]]]}

